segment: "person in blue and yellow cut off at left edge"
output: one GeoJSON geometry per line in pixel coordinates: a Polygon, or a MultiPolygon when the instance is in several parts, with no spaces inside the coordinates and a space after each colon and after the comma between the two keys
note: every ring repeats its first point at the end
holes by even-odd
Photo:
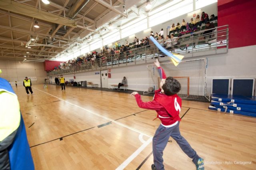
{"type": "Polygon", "coordinates": [[[1,77],[0,170],[34,170],[18,97],[8,81],[1,77]]]}

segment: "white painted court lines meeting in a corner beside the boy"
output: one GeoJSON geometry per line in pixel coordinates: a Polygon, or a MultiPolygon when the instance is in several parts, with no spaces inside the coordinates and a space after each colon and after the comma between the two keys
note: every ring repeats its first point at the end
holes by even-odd
{"type": "MultiPolygon", "coordinates": [[[[33,87],[33,89],[36,89],[36,88],[33,87]]],[[[39,90],[39,89],[37,89],[37,90],[39,90]]],[[[42,90],[39,90],[39,91],[42,91],[42,90]]],[[[46,93],[45,91],[42,91],[42,92],[46,93]]],[[[46,93],[46,94],[51,95],[50,93],[46,93]]],[[[151,136],[151,135],[148,135],[148,134],[146,134],[146,133],[144,133],[144,132],[142,132],[142,131],[140,131],[140,130],[137,130],[137,129],[135,129],[135,128],[129,127],[129,126],[127,126],[127,125],[124,125],[124,124],[122,124],[122,123],[120,123],[120,122],[117,122],[117,121],[115,121],[115,120],[113,120],[113,119],[110,119],[110,118],[108,118],[108,117],[102,116],[102,115],[100,115],[100,114],[98,114],[98,113],[94,113],[94,112],[92,112],[92,111],[89,111],[89,110],[87,110],[87,109],[84,109],[84,108],[82,108],[82,107],[80,107],[80,106],[78,106],[78,105],[74,105],[73,103],[70,103],[70,102],[68,102],[68,101],[65,101],[65,100],[63,100],[63,99],[61,99],[61,98],[59,98],[59,97],[57,97],[57,96],[54,96],[54,95],[51,95],[51,96],[56,97],[57,99],[60,99],[61,101],[64,101],[64,102],[66,102],[66,103],[68,103],[68,104],[70,104],[70,105],[73,105],[73,106],[79,107],[80,109],[83,109],[83,110],[85,110],[85,111],[88,111],[88,112],[92,113],[93,115],[96,115],[96,116],[101,117],[101,118],[103,118],[103,119],[107,119],[108,121],[111,121],[111,122],[113,122],[113,123],[116,123],[117,125],[120,125],[120,126],[122,126],[122,127],[128,128],[128,129],[130,129],[130,130],[132,130],[132,131],[134,131],[134,132],[138,132],[138,133],[140,133],[141,138],[142,138],[142,135],[141,135],[141,134],[150,137],[150,138],[149,138],[146,142],[144,142],[144,143],[142,144],[142,146],[140,146],[140,148],[138,148],[129,158],[127,158],[120,166],[118,166],[118,168],[116,168],[117,170],[122,170],[122,169],[124,169],[124,168],[125,168],[132,160],[134,160],[134,158],[136,158],[136,156],[138,156],[138,154],[140,154],[140,152],[141,152],[144,148],[146,148],[146,146],[148,146],[148,144],[150,144],[150,142],[152,141],[152,136],[151,136]]],[[[142,142],[142,141],[141,141],[141,142],[142,142]]]]}

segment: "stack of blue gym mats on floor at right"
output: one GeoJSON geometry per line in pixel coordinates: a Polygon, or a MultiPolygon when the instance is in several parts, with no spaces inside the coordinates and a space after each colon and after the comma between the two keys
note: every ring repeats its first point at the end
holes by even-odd
{"type": "Polygon", "coordinates": [[[256,96],[212,94],[211,98],[211,110],[256,117],[256,96]]]}

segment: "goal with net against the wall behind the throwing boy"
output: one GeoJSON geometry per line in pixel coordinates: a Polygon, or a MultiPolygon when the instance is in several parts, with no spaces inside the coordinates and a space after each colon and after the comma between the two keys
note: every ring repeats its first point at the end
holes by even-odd
{"type": "MultiPolygon", "coordinates": [[[[206,69],[207,59],[183,60],[177,67],[171,62],[160,63],[166,76],[172,76],[180,82],[181,90],[178,95],[182,99],[209,100],[206,93],[206,69]]],[[[154,90],[159,89],[160,75],[155,65],[147,65],[148,68],[148,91],[146,95],[154,95],[154,90]],[[150,91],[150,89],[152,91],[150,91]]]]}

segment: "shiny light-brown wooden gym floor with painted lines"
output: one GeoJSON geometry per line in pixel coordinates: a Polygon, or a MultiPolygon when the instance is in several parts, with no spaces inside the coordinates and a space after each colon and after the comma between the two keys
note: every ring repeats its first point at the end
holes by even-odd
{"type": "MultiPolygon", "coordinates": [[[[60,86],[13,87],[20,101],[36,170],[150,170],[155,111],[138,108],[129,94],[60,86]]],[[[152,97],[142,96],[144,101],[152,97]]],[[[206,170],[256,169],[256,119],[208,110],[183,101],[180,131],[205,160],[206,170]],[[240,162],[241,161],[241,162],[240,162]]],[[[166,170],[194,170],[170,138],[166,170]]]]}

